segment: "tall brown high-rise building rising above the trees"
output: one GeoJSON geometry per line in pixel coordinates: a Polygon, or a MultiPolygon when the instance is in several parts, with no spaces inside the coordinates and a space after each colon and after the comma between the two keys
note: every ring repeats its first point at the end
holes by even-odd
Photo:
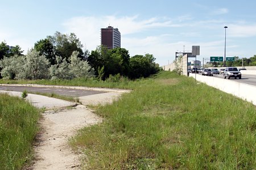
{"type": "Polygon", "coordinates": [[[107,46],[108,49],[121,47],[121,33],[118,28],[101,28],[101,45],[107,46]]]}

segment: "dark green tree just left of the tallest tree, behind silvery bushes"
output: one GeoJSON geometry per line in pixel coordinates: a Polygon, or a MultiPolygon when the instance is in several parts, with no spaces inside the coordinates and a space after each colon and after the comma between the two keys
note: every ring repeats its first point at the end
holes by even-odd
{"type": "Polygon", "coordinates": [[[44,55],[49,60],[51,65],[55,64],[55,53],[53,52],[53,44],[49,39],[42,39],[35,43],[34,49],[37,50],[40,56],[44,55]]]}

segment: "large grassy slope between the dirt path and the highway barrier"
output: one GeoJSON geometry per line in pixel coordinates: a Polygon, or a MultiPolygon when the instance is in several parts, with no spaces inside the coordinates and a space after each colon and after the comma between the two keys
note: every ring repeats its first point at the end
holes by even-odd
{"type": "Polygon", "coordinates": [[[84,169],[255,169],[253,104],[170,72],[131,83],[71,139],[84,169]]]}

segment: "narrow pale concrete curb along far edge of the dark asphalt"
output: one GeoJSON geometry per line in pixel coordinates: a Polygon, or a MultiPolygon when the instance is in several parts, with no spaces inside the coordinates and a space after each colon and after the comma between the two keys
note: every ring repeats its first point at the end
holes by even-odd
{"type": "Polygon", "coordinates": [[[58,85],[43,85],[43,84],[0,84],[0,86],[71,88],[71,89],[77,89],[77,90],[92,90],[92,91],[119,92],[119,93],[129,93],[129,92],[131,92],[131,90],[120,90],[120,89],[117,89],[117,88],[58,86],[58,85]]]}

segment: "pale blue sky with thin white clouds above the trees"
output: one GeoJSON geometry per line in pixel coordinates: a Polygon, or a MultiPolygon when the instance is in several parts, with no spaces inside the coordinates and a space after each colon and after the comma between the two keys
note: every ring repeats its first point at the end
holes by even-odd
{"type": "MultiPolygon", "coordinates": [[[[75,33],[89,52],[100,45],[100,29],[121,32],[121,47],[130,56],[153,54],[160,66],[175,52],[200,46],[197,59],[256,54],[256,1],[104,1],[0,0],[0,42],[19,45],[24,54],[56,31],[75,33]]],[[[189,58],[193,60],[195,58],[189,58]]]]}

